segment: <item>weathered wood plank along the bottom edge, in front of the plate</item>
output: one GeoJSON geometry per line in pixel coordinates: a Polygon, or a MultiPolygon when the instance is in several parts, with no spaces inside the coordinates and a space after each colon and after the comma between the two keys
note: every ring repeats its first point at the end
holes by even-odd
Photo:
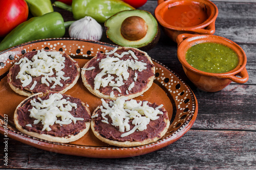
{"type": "MultiPolygon", "coordinates": [[[[8,167],[26,169],[255,169],[255,133],[190,130],[181,139],[159,151],[122,159],[94,159],[56,154],[11,139],[8,151],[11,160],[9,160],[8,167]]],[[[0,135],[1,138],[2,136],[0,135]]],[[[3,162],[2,152],[0,162],[3,162]]]]}

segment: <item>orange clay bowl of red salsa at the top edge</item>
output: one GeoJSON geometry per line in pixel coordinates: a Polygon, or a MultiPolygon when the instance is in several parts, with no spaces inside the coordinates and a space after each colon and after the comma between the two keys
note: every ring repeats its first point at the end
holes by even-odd
{"type": "Polygon", "coordinates": [[[218,8],[208,0],[158,0],[155,16],[165,34],[176,42],[179,34],[214,34],[218,8]]]}

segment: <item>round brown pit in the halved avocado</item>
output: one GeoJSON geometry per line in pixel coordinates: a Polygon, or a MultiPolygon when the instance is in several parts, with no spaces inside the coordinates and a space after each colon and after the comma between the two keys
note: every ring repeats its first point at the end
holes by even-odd
{"type": "Polygon", "coordinates": [[[147,25],[143,18],[130,16],[123,20],[121,25],[122,36],[131,41],[143,38],[147,33],[147,25]]]}

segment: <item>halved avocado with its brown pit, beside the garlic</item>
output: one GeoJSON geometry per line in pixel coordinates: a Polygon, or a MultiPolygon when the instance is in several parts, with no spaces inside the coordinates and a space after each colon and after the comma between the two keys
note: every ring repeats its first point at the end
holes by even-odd
{"type": "Polygon", "coordinates": [[[144,10],[118,12],[108,18],[104,26],[106,37],[115,44],[139,48],[142,51],[151,50],[160,37],[157,20],[150,12],[144,10]],[[138,17],[140,17],[139,21],[137,20],[138,17]],[[137,19],[135,20],[134,18],[137,19]],[[127,20],[124,21],[125,19],[127,20]],[[130,32],[130,27],[132,28],[131,30],[139,30],[139,32],[130,32]]]}

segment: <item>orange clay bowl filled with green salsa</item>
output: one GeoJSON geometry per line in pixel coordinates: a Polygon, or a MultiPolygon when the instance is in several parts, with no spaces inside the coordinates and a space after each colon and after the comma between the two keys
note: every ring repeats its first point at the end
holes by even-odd
{"type": "Polygon", "coordinates": [[[248,81],[246,55],[236,43],[216,35],[181,34],[177,56],[188,79],[207,92],[220,91],[232,81],[248,81]]]}

